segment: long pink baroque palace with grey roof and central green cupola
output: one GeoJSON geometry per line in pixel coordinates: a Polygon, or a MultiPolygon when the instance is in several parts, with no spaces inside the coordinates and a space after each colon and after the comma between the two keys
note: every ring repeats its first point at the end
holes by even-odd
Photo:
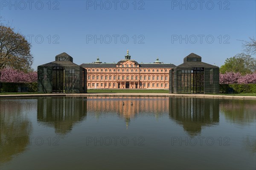
{"type": "Polygon", "coordinates": [[[80,65],[87,70],[87,88],[147,88],[169,89],[169,71],[173,64],[164,64],[157,58],[154,63],[138,63],[129,51],[117,63],[102,63],[99,57],[93,63],[80,65]]]}

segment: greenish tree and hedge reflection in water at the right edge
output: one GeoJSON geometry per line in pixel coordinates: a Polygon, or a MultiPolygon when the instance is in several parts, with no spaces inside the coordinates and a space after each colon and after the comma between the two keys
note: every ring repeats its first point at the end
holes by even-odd
{"type": "Polygon", "coordinates": [[[256,101],[222,99],[220,100],[220,110],[226,119],[239,125],[245,125],[255,121],[256,101]]]}

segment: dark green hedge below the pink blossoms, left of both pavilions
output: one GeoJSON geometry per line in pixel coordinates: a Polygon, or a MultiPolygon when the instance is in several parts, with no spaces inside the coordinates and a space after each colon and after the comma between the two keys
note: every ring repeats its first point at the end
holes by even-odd
{"type": "Polygon", "coordinates": [[[37,82],[1,82],[1,92],[18,92],[18,87],[28,87],[29,92],[37,92],[37,82]]]}

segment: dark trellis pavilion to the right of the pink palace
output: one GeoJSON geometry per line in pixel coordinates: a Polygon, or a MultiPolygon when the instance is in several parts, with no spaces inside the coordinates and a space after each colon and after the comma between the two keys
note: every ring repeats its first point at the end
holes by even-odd
{"type": "Polygon", "coordinates": [[[169,93],[218,94],[219,68],[201,62],[201,57],[191,53],[169,73],[169,93]]]}

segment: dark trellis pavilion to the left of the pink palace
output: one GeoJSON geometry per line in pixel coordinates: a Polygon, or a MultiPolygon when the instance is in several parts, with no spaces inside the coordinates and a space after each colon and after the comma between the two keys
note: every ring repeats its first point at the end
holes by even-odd
{"type": "Polygon", "coordinates": [[[38,66],[38,92],[87,93],[86,73],[71,56],[61,53],[54,62],[38,66]]]}

